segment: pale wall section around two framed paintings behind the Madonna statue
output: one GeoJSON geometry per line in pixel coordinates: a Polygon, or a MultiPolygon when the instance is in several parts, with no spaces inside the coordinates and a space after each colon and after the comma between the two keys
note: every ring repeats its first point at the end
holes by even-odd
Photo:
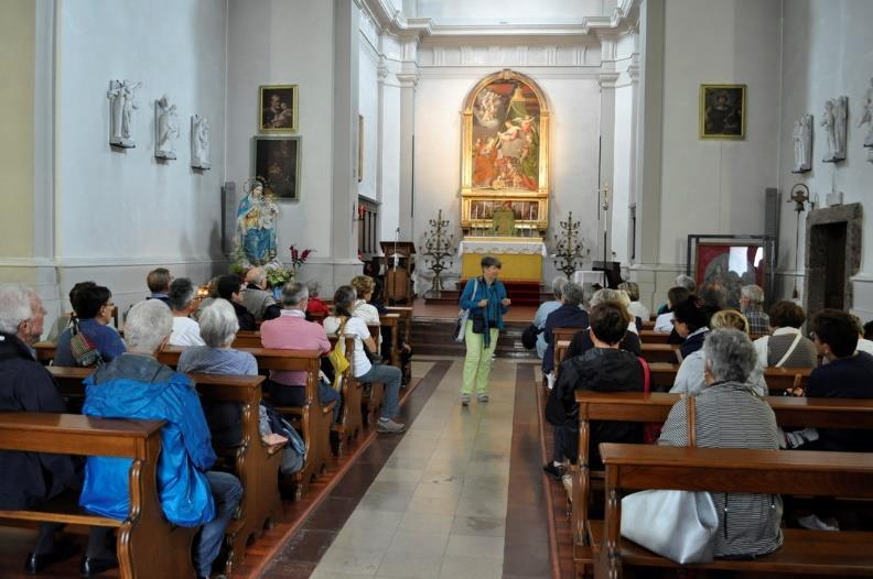
{"type": "Polygon", "coordinates": [[[315,249],[312,262],[332,251],[333,6],[309,0],[229,3],[227,181],[241,187],[252,176],[258,87],[300,85],[300,201],[279,204],[278,244],[285,261],[292,243],[315,249]]]}

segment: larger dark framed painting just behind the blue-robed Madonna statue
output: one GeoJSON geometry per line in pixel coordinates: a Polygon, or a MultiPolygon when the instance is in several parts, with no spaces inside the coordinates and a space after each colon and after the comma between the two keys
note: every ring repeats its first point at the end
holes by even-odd
{"type": "Polygon", "coordinates": [[[255,176],[277,199],[300,199],[300,136],[255,136],[255,176]]]}

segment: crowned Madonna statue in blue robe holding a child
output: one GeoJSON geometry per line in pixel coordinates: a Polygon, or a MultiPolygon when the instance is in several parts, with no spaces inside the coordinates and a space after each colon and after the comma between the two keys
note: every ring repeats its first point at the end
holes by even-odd
{"type": "Polygon", "coordinates": [[[277,254],[276,219],[279,208],[263,194],[263,182],[249,179],[237,208],[237,236],[244,266],[263,265],[277,254]]]}

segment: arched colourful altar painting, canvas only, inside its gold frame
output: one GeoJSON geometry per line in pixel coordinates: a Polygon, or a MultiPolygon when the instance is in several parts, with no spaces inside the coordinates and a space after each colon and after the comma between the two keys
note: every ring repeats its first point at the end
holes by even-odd
{"type": "Polygon", "coordinates": [[[537,190],[539,117],[536,94],[519,80],[495,80],[473,105],[473,188],[537,190]]]}

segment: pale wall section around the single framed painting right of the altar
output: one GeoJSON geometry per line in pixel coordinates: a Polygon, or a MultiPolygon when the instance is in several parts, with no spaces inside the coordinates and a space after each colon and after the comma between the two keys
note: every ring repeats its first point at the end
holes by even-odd
{"type": "Polygon", "coordinates": [[[666,2],[661,264],[685,263],[689,233],[763,232],[764,189],[777,183],[779,6],[666,2]],[[698,139],[701,84],[747,86],[745,140],[698,139]]]}

